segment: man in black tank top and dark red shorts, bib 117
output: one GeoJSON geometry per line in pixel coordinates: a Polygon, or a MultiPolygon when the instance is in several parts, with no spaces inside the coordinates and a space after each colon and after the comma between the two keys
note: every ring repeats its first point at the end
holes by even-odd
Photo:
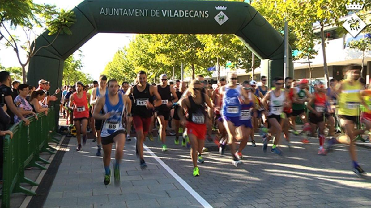
{"type": "Polygon", "coordinates": [[[147,168],[143,158],[143,141],[148,134],[152,111],[155,107],[161,105],[161,97],[155,86],[147,84],[147,74],[144,71],[139,71],[136,81],[138,84],[130,87],[125,94],[132,94],[134,97],[133,124],[135,132],[137,133],[136,153],[143,170],[147,168]],[[153,104],[148,102],[151,96],[156,97],[153,104]]]}

